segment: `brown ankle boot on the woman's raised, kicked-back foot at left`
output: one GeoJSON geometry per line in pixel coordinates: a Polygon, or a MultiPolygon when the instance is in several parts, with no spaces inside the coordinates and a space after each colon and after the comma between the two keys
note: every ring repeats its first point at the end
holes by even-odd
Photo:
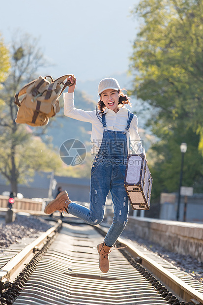
{"type": "Polygon", "coordinates": [[[67,212],[68,205],[70,203],[70,199],[68,197],[68,193],[66,191],[62,191],[58,194],[57,198],[52,200],[44,209],[44,213],[51,214],[55,211],[67,212]]]}

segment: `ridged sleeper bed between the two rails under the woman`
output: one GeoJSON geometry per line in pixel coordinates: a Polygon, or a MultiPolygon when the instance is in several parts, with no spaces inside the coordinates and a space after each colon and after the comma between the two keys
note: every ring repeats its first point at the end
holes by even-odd
{"type": "Polygon", "coordinates": [[[96,249],[101,241],[93,226],[63,222],[13,304],[169,304],[119,251],[112,251],[110,271],[102,274],[96,249]]]}

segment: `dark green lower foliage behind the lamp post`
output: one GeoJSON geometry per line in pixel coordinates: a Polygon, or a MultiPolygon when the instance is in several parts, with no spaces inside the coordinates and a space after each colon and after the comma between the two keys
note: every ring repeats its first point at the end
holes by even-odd
{"type": "Polygon", "coordinates": [[[170,133],[166,131],[167,129],[160,129],[160,132],[162,132],[160,141],[154,144],[148,152],[152,156],[152,161],[150,162],[154,181],[152,197],[159,197],[159,194],[163,191],[174,192],[178,190],[181,164],[180,143],[188,143],[188,139],[190,141],[184,156],[182,185],[192,186],[195,192],[202,192],[203,157],[197,150],[200,136],[195,134],[192,129],[181,133],[179,133],[179,129],[170,130],[170,133]]]}

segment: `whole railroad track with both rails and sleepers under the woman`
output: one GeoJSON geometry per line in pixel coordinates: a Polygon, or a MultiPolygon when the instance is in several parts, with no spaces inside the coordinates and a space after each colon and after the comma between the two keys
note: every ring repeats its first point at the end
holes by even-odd
{"type": "Polygon", "coordinates": [[[0,305],[203,305],[202,283],[120,238],[101,273],[96,245],[105,231],[59,222],[18,254],[14,248],[0,270],[0,305]]]}

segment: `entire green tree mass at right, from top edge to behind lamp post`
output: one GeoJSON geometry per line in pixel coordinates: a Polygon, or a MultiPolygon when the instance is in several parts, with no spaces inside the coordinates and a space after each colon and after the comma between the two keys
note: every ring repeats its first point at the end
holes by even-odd
{"type": "Polygon", "coordinates": [[[149,106],[147,126],[159,139],[150,153],[152,194],[177,191],[181,142],[188,144],[183,184],[202,191],[203,1],[143,0],[132,13],[142,25],[133,44],[131,93],[149,106]]]}

